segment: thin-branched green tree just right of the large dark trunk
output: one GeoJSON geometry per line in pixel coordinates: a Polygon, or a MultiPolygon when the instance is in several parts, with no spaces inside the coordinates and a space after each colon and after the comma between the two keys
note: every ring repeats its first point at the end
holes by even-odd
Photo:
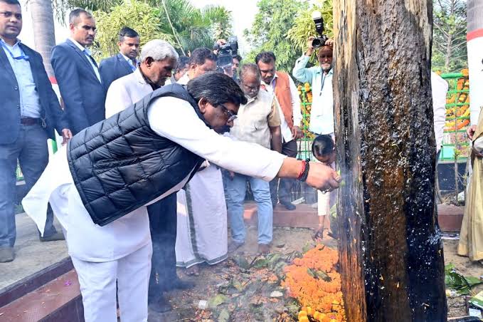
{"type": "Polygon", "coordinates": [[[466,1],[434,0],[432,70],[443,73],[467,67],[466,1]]]}

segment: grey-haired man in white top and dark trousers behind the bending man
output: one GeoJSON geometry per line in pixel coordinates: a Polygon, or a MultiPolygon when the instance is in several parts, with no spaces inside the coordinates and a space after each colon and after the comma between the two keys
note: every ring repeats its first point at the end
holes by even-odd
{"type": "MultiPolygon", "coordinates": [[[[174,69],[174,63],[177,59],[178,54],[173,46],[166,41],[147,42],[142,48],[139,68],[134,73],[112,83],[107,91],[106,117],[109,118],[119,113],[164,85],[169,80],[171,70],[174,69]],[[154,61],[150,63],[149,58],[154,58],[154,61]]],[[[153,244],[148,303],[152,310],[164,312],[171,309],[171,305],[163,296],[164,290],[169,289],[170,285],[186,284],[186,282],[180,281],[176,275],[176,255],[174,251],[176,243],[175,194],[148,207],[148,215],[153,244]],[[164,251],[160,251],[160,248],[163,248],[164,251]]]]}

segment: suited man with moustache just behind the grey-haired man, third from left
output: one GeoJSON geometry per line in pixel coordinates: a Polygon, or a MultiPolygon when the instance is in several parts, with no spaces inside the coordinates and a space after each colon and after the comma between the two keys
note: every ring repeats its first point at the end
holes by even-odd
{"type": "Polygon", "coordinates": [[[117,78],[129,75],[137,68],[137,55],[139,54],[139,34],[129,27],[119,32],[119,53],[100,62],[99,73],[105,91],[117,78]]]}

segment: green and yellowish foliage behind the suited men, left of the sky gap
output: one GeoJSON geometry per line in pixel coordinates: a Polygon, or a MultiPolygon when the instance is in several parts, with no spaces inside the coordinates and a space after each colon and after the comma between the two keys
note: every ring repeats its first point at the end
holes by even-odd
{"type": "Polygon", "coordinates": [[[216,39],[225,38],[232,31],[231,12],[225,7],[212,5],[198,9],[189,0],[53,0],[53,3],[55,16],[62,21],[73,8],[94,12],[100,33],[95,49],[100,57],[117,52],[117,33],[122,26],[134,28],[142,43],[161,38],[185,53],[198,47],[212,48],[216,39]]]}

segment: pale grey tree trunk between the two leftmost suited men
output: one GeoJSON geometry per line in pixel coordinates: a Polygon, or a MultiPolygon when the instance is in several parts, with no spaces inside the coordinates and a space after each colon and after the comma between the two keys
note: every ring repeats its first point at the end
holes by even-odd
{"type": "Polygon", "coordinates": [[[51,66],[51,49],[55,46],[52,0],[30,0],[32,14],[33,42],[43,59],[47,75],[54,76],[51,66]]]}

